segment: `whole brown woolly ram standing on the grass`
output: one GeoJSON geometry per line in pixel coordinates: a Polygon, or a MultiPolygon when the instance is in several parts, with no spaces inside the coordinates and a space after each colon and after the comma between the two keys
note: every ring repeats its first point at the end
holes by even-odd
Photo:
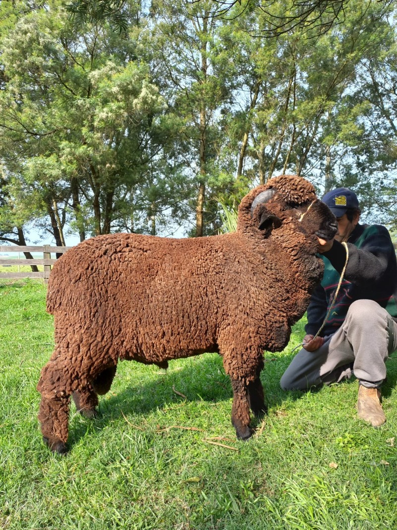
{"type": "Polygon", "coordinates": [[[306,310],[322,275],[315,234],[332,237],[335,218],[294,175],[252,190],[238,215],[233,234],[103,235],[59,259],[47,295],[56,348],[37,386],[53,451],[66,450],[69,396],[93,416],[119,360],[166,367],[214,351],[232,381],[237,436],[251,436],[249,407],[265,410],[263,351],[282,350],[306,310]],[[255,197],[270,188],[274,196],[251,213],[255,197]]]}

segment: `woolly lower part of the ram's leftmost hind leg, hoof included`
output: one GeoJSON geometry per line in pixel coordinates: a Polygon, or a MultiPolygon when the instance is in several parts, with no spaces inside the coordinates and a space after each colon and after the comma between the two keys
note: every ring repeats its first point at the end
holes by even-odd
{"type": "Polygon", "coordinates": [[[41,433],[53,453],[67,452],[69,401],[70,396],[50,399],[42,396],[40,401],[41,433]]]}

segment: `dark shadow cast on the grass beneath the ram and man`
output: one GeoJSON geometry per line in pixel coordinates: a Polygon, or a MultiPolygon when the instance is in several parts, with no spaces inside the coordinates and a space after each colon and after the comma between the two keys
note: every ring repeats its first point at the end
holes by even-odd
{"type": "MultiPolygon", "coordinates": [[[[297,401],[306,395],[303,391],[284,391],[279,386],[279,380],[285,369],[291,363],[294,354],[285,354],[277,358],[271,358],[268,354],[265,359],[265,368],[261,373],[261,382],[265,391],[265,402],[269,408],[278,409],[283,407],[285,401],[297,401]]],[[[137,372],[134,375],[134,361],[124,361],[130,368],[123,369],[122,374],[116,375],[119,384],[124,384],[123,390],[117,392],[112,386],[110,394],[100,398],[98,411],[100,416],[94,420],[95,427],[105,428],[115,418],[129,416],[146,416],[152,411],[166,410],[175,405],[182,404],[186,396],[188,402],[204,401],[206,403],[220,403],[230,400],[233,396],[229,377],[224,373],[222,358],[216,354],[211,356],[198,356],[190,359],[177,361],[182,364],[177,370],[173,369],[173,362],[170,362],[170,369],[159,370],[158,373],[151,373],[149,376],[141,376],[137,372]],[[125,387],[124,377],[128,377],[131,385],[125,387]],[[146,380],[145,380],[146,379],[146,380]]],[[[151,368],[150,368],[151,369],[151,368]]],[[[121,370],[120,370],[121,371],[121,370]]],[[[348,385],[356,382],[352,377],[348,381],[339,383],[348,385]]],[[[397,356],[387,361],[387,381],[382,387],[382,394],[385,398],[391,395],[392,389],[397,382],[397,356]]],[[[320,392],[320,388],[312,388],[311,392],[320,392]]],[[[74,405],[71,405],[71,413],[74,413],[74,405]]],[[[231,414],[228,413],[229,419],[231,414]]],[[[271,414],[271,413],[270,413],[271,414]]],[[[91,420],[78,422],[71,426],[69,436],[69,447],[73,446],[80,437],[86,433],[91,420]]],[[[261,422],[260,418],[255,418],[251,414],[251,426],[257,427],[261,422]]]]}

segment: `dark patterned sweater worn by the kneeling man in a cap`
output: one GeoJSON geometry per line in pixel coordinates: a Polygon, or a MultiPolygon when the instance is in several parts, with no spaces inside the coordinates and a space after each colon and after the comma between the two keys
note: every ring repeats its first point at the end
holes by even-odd
{"type": "MultiPolygon", "coordinates": [[[[320,335],[326,337],[341,326],[351,303],[374,300],[397,322],[397,261],[393,243],[382,225],[357,224],[347,242],[349,260],[335,305],[320,335]]],[[[345,247],[334,241],[321,255],[324,276],[308,307],[307,334],[315,335],[326,316],[346,261],[345,247]]]]}

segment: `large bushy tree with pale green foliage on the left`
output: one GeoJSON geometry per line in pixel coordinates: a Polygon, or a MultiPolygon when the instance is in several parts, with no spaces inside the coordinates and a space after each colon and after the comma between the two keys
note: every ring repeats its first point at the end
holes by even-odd
{"type": "Polygon", "coordinates": [[[167,183],[155,213],[179,186],[179,164],[165,156],[179,123],[167,118],[145,58],[131,60],[139,50],[134,35],[126,42],[109,28],[76,31],[61,3],[52,7],[26,15],[4,38],[7,172],[24,190],[20,199],[37,193],[50,216],[56,201],[64,219],[75,216],[80,232],[145,231],[154,207],[148,183],[158,184],[158,193],[167,183]],[[17,92],[21,103],[14,101],[17,92]],[[15,144],[23,147],[17,158],[15,144]]]}

